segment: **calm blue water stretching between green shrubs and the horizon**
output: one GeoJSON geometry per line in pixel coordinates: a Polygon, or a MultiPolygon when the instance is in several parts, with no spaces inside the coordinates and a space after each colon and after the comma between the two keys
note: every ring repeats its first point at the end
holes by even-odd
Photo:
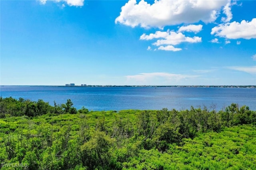
{"type": "Polygon", "coordinates": [[[256,110],[256,88],[189,88],[189,87],[54,87],[1,86],[3,98],[42,99],[52,106],[71,99],[74,107],[89,110],[189,109],[190,106],[220,110],[237,103],[256,110]]]}

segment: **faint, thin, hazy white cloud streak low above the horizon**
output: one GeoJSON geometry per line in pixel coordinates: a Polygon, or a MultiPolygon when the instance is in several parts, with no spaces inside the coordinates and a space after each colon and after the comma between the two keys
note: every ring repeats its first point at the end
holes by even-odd
{"type": "MultiPolygon", "coordinates": [[[[197,78],[198,75],[170,74],[167,72],[140,73],[132,76],[126,76],[127,80],[134,80],[138,83],[154,82],[159,84],[159,80],[164,82],[179,81],[182,79],[197,78]]],[[[161,82],[162,83],[162,82],[161,82]]]]}

